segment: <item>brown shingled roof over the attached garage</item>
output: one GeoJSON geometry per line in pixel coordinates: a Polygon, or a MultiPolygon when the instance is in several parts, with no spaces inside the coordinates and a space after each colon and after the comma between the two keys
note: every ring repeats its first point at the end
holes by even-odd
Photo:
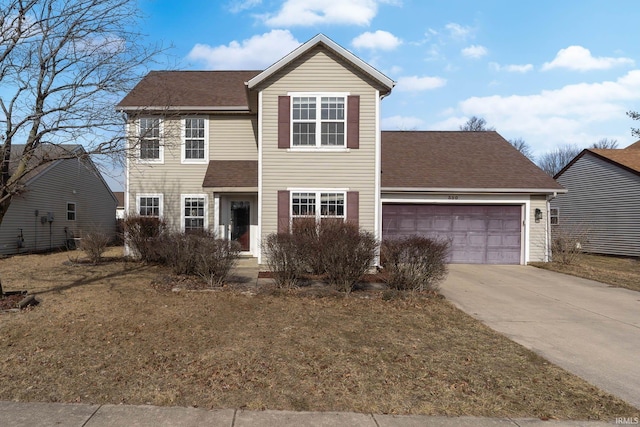
{"type": "Polygon", "coordinates": [[[382,188],[564,191],[493,131],[383,131],[382,188]]]}

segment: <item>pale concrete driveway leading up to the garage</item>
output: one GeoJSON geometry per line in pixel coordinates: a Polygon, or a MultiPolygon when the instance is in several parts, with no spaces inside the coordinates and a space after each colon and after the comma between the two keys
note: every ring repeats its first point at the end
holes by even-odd
{"type": "Polygon", "coordinates": [[[551,362],[640,408],[640,292],[529,266],[450,266],[441,292],[551,362]]]}

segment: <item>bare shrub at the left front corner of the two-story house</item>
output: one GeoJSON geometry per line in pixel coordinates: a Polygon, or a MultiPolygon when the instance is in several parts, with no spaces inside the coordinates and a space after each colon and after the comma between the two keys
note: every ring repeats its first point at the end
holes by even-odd
{"type": "Polygon", "coordinates": [[[155,217],[130,215],[124,219],[125,244],[145,262],[158,262],[160,236],[167,231],[164,220],[155,217]]]}

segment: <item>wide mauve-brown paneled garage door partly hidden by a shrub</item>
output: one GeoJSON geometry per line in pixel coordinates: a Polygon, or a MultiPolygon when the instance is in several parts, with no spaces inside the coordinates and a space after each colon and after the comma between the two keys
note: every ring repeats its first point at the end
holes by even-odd
{"type": "Polygon", "coordinates": [[[520,264],[520,212],[520,206],[385,204],[382,235],[449,239],[452,263],[520,264]]]}

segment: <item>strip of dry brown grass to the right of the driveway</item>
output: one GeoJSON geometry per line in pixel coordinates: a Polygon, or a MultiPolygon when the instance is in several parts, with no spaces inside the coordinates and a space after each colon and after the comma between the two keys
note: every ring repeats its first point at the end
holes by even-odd
{"type": "Polygon", "coordinates": [[[582,254],[572,264],[538,262],[532,265],[619,288],[640,291],[640,260],[634,258],[582,254]]]}

